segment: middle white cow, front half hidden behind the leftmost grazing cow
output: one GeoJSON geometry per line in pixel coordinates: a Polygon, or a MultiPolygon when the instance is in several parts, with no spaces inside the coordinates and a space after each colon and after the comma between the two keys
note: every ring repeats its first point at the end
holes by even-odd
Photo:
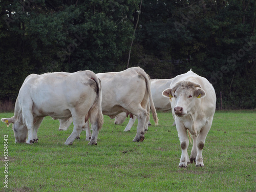
{"type": "MultiPolygon", "coordinates": [[[[102,113],[110,118],[115,118],[121,112],[125,112],[126,116],[130,115],[132,118],[139,117],[137,134],[133,141],[143,141],[146,122],[150,119],[150,106],[155,124],[158,124],[151,95],[150,77],[139,67],[96,75],[101,79],[102,85],[102,113]],[[148,105],[149,101],[151,105],[148,105]]],[[[61,124],[60,126],[62,127],[61,124]]],[[[67,129],[68,126],[62,130],[67,129]]],[[[89,125],[87,125],[86,133],[89,139],[91,137],[89,125]]]]}

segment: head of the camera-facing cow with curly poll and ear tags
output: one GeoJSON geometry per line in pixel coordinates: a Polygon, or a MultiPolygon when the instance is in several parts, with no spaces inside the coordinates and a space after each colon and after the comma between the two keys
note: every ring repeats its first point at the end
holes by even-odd
{"type": "Polygon", "coordinates": [[[162,95],[174,99],[174,113],[183,117],[189,113],[194,113],[197,108],[200,110],[196,104],[197,99],[204,97],[205,92],[199,88],[201,88],[200,84],[195,82],[180,81],[172,89],[164,90],[162,95]]]}

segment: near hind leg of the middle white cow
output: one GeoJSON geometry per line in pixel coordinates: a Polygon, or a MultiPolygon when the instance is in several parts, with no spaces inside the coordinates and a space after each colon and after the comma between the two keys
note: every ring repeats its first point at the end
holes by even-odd
{"type": "Polygon", "coordinates": [[[139,115],[136,115],[138,118],[138,126],[137,126],[137,134],[136,134],[135,138],[133,139],[134,142],[136,142],[136,141],[142,142],[145,138],[144,126],[146,123],[146,115],[147,115],[146,110],[143,110],[142,113],[140,113],[139,115]]]}

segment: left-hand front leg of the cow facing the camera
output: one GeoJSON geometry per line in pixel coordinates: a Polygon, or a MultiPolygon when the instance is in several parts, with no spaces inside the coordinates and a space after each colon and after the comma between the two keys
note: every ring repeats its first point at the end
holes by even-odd
{"type": "Polygon", "coordinates": [[[180,139],[180,147],[181,147],[181,158],[180,158],[179,167],[187,167],[187,164],[190,163],[188,158],[188,153],[187,153],[187,148],[189,144],[189,140],[186,134],[187,132],[184,125],[179,121],[176,124],[176,128],[178,131],[178,135],[180,139]]]}

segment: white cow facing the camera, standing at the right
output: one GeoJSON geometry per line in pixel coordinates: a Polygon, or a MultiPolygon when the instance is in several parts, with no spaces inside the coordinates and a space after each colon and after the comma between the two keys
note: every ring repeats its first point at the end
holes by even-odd
{"type": "Polygon", "coordinates": [[[176,76],[170,88],[162,95],[172,98],[172,113],[178,131],[181,158],[179,167],[187,167],[188,163],[196,162],[196,166],[204,166],[203,147],[210,130],[216,108],[216,94],[211,83],[193,71],[176,76]],[[193,137],[193,147],[188,157],[187,130],[193,137]]]}

